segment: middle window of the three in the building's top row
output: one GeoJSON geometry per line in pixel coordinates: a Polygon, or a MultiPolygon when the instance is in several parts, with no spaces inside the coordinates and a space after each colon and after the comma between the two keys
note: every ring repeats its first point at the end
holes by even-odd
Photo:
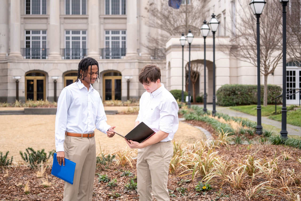
{"type": "Polygon", "coordinates": [[[65,0],[66,15],[85,15],[87,14],[86,0],[65,0]]]}

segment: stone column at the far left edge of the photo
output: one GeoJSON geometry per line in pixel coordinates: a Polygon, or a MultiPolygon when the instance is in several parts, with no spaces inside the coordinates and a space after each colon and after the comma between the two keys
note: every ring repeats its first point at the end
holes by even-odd
{"type": "Polygon", "coordinates": [[[8,54],[8,0],[0,6],[0,58],[8,54]]]}

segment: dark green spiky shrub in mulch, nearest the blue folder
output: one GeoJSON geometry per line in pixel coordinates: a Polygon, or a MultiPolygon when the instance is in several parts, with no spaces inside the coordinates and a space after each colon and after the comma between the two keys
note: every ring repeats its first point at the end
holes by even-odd
{"type": "Polygon", "coordinates": [[[41,151],[40,150],[35,151],[35,150],[33,150],[33,148],[28,147],[25,150],[27,153],[24,152],[24,154],[23,154],[22,151],[20,151],[19,153],[20,153],[22,159],[32,169],[39,168],[41,166],[41,163],[46,165],[50,156],[53,155],[52,151],[48,152],[48,155],[47,155],[47,153],[45,152],[45,149],[42,149],[41,151]],[[29,153],[29,151],[30,151],[30,153],[29,153]]]}

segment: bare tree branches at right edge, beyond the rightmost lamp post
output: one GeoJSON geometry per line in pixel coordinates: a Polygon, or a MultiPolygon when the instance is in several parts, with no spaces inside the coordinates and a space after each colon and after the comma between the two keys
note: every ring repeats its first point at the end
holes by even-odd
{"type": "MultiPolygon", "coordinates": [[[[287,6],[287,55],[293,62],[301,60],[301,1],[291,0],[287,6]]],[[[300,64],[298,63],[297,66],[300,64]]]]}

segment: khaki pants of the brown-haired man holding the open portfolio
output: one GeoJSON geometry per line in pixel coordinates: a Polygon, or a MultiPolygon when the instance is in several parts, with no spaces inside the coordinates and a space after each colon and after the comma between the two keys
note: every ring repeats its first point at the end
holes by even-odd
{"type": "Polygon", "coordinates": [[[139,201],[152,201],[152,191],[157,201],[169,201],[167,181],[172,155],[171,141],[138,149],[136,167],[139,201]]]}

